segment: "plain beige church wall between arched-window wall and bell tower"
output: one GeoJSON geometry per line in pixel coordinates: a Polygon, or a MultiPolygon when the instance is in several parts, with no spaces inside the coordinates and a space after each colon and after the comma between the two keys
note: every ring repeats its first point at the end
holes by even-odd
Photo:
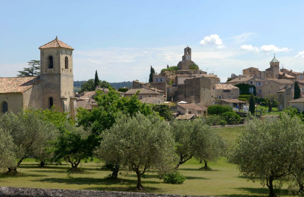
{"type": "Polygon", "coordinates": [[[33,85],[23,94],[23,109],[34,107],[35,109],[43,108],[42,102],[42,82],[33,85]]]}

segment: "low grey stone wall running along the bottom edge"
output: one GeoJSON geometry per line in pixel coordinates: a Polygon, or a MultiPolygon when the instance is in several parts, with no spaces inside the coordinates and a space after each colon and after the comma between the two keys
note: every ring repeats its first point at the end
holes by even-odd
{"type": "MultiPolygon", "coordinates": [[[[108,192],[95,190],[42,189],[0,187],[1,197],[186,197],[188,195],[153,194],[141,192],[108,192]]],[[[188,196],[191,197],[191,196],[188,196]]],[[[192,196],[194,197],[194,196],[192,196]]],[[[207,196],[199,196],[207,197],[207,196]]],[[[216,197],[216,196],[209,196],[216,197]]]]}

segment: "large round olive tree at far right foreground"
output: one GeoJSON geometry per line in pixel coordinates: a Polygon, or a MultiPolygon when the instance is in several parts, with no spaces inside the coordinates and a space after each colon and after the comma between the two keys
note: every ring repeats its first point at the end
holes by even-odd
{"type": "Polygon", "coordinates": [[[228,161],[252,181],[261,181],[275,196],[274,181],[284,181],[302,168],[304,132],[297,117],[284,112],[281,119],[248,120],[245,130],[232,147],[228,161]]]}

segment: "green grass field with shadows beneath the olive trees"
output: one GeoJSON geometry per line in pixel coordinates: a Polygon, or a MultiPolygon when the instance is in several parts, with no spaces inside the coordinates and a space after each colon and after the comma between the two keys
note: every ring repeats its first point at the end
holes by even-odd
{"type": "MultiPolygon", "coordinates": [[[[215,131],[224,139],[234,141],[242,129],[244,127],[220,128],[215,131]]],[[[199,170],[201,166],[195,159],[182,164],[179,171],[186,177],[182,185],[164,184],[156,173],[148,172],[146,178],[142,179],[144,192],[236,197],[268,194],[267,187],[263,188],[258,182],[247,181],[235,165],[227,163],[226,157],[210,163],[210,171],[199,170]]],[[[26,159],[18,168],[19,175],[0,176],[0,186],[137,192],[134,173],[119,175],[119,180],[113,181],[105,178],[110,171],[102,170],[95,162],[82,163],[81,168],[84,171],[71,176],[67,176],[68,168],[70,165],[67,163],[40,168],[34,159],[26,159]]],[[[286,189],[282,190],[281,196],[288,196],[286,189]]]]}

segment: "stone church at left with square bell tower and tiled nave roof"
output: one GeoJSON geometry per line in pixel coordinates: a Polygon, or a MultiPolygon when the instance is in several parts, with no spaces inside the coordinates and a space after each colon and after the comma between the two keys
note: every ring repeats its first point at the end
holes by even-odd
{"type": "Polygon", "coordinates": [[[40,76],[0,78],[1,113],[21,109],[50,109],[75,115],[73,92],[73,48],[52,40],[40,49],[40,76]]]}

